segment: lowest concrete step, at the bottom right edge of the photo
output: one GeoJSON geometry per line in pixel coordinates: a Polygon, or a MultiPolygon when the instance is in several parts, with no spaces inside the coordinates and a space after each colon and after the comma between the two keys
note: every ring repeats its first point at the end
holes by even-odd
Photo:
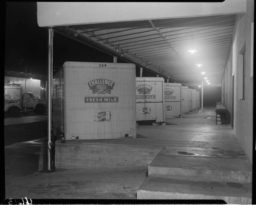
{"type": "Polygon", "coordinates": [[[224,200],[251,204],[251,183],[195,181],[148,176],[137,190],[137,199],[224,200]]]}

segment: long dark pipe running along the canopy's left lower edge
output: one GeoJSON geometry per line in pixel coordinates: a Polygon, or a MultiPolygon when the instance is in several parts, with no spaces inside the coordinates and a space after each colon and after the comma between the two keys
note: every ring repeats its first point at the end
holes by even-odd
{"type": "MultiPolygon", "coordinates": [[[[77,33],[73,29],[70,29],[68,27],[54,27],[53,30],[56,31],[59,34],[62,34],[64,36],[67,36],[67,37],[70,37],[72,39],[75,39],[75,40],[77,40],[77,41],[79,41],[81,43],[87,44],[87,45],[89,45],[89,46],[91,46],[91,47],[93,47],[95,49],[98,49],[98,50],[104,52],[104,53],[116,56],[116,57],[118,57],[118,58],[120,58],[120,59],[122,59],[122,60],[124,60],[126,62],[134,63],[137,66],[145,68],[147,70],[150,70],[150,71],[152,71],[152,72],[154,72],[156,74],[163,75],[162,73],[160,73],[160,72],[158,72],[158,71],[156,71],[156,70],[154,70],[154,69],[144,65],[143,63],[140,63],[140,62],[138,62],[136,60],[133,60],[133,59],[125,56],[124,53],[120,53],[117,50],[114,50],[114,49],[112,49],[112,48],[110,48],[108,46],[105,46],[105,45],[103,45],[103,44],[101,44],[101,43],[99,43],[99,42],[97,42],[97,41],[95,41],[95,40],[93,40],[93,39],[91,39],[89,37],[83,36],[83,35],[77,33]]],[[[167,78],[168,76],[165,76],[165,77],[167,78]]]]}

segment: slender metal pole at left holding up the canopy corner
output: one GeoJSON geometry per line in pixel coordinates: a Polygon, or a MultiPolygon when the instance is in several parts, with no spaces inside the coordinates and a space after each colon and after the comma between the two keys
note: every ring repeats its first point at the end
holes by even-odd
{"type": "Polygon", "coordinates": [[[51,170],[51,130],[52,130],[52,71],[53,71],[53,29],[48,29],[48,171],[51,170]]]}

